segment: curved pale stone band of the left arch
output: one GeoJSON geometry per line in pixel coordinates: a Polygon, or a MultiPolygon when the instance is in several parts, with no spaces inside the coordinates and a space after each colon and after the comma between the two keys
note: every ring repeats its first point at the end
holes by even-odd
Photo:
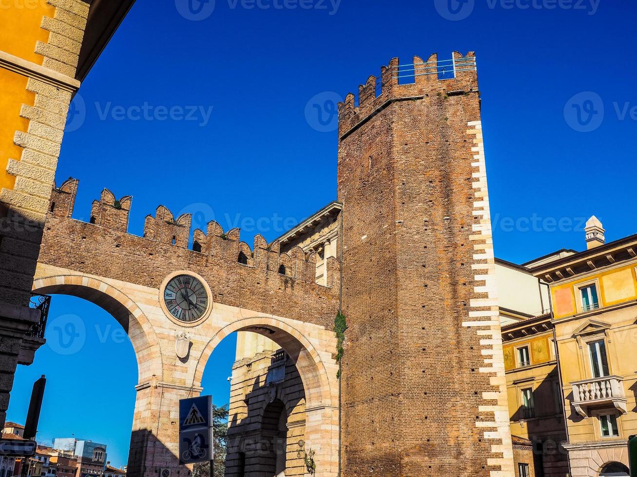
{"type": "Polygon", "coordinates": [[[140,307],[122,291],[85,275],[42,277],[34,280],[33,291],[39,294],[65,294],[83,298],[115,318],[131,340],[137,359],[138,382],[148,381],[152,373],[163,370],[155,330],[140,307]]]}

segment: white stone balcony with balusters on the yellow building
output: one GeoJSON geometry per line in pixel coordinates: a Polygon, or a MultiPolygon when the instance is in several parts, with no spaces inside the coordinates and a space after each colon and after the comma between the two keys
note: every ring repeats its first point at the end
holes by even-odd
{"type": "Polygon", "coordinates": [[[626,414],[626,394],[624,378],[605,376],[571,383],[573,387],[573,406],[582,417],[590,417],[590,410],[600,406],[615,406],[622,414],[626,414]]]}

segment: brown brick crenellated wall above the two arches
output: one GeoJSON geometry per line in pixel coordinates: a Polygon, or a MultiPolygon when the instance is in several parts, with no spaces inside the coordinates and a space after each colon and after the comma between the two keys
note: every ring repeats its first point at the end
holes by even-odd
{"type": "Polygon", "coordinates": [[[268,244],[261,235],[251,249],[238,228],[224,232],[215,221],[206,232],[194,231],[195,251],[188,248],[190,215],[175,218],[163,205],[146,217],[143,237],[131,235],[126,232],[131,197],[116,200],[106,189],[92,205],[91,223],[85,223],[71,218],[77,187],[78,181],[69,179],[53,192],[40,263],[153,287],[169,273],[189,268],[210,283],[215,301],[269,312],[284,300],[295,317],[306,316],[309,307],[313,322],[332,326],[340,279],[336,258],[328,260],[327,286],[322,286],[316,283],[315,253],[301,247],[282,253],[278,242],[268,244]],[[240,252],[247,264],[239,263],[240,252]]]}

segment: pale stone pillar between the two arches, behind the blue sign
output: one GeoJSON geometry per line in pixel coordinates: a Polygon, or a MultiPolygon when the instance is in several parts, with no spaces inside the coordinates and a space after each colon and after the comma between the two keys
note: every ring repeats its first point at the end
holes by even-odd
{"type": "Polygon", "coordinates": [[[178,457],[179,400],[199,396],[201,387],[161,382],[154,376],[136,390],[128,475],[157,477],[168,468],[172,476],[187,477],[190,469],[180,466],[178,457]]]}

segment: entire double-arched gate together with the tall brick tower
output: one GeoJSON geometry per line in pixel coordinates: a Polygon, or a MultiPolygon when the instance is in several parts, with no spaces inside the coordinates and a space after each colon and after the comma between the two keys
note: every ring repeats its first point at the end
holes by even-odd
{"type": "MultiPolygon", "coordinates": [[[[233,331],[268,336],[296,366],[318,476],[513,475],[475,55],[392,59],[340,104],[338,134],[340,259],[321,266],[323,284],[315,252],[261,235],[250,249],[215,222],[191,250],[187,214],[160,206],[136,237],[130,197],[104,190],[82,223],[77,181],[54,191],[34,291],[86,298],[127,330],[140,373],[132,477],[178,472],[178,399],[201,392],[233,331]]],[[[277,438],[283,405],[264,406],[277,438]]]]}

